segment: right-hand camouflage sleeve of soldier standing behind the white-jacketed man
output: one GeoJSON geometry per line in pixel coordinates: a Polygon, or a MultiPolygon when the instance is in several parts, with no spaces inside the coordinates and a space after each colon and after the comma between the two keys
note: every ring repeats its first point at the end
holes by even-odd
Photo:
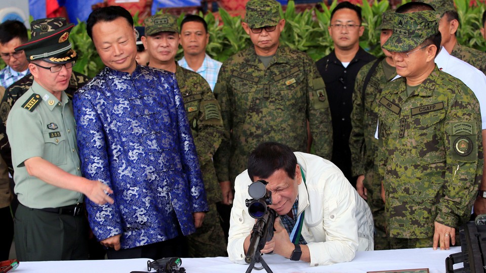
{"type": "Polygon", "coordinates": [[[307,57],[304,59],[307,76],[307,119],[309,120],[312,144],[316,155],[331,160],[333,154],[333,124],[329,108],[326,85],[317,71],[315,63],[307,57]]]}

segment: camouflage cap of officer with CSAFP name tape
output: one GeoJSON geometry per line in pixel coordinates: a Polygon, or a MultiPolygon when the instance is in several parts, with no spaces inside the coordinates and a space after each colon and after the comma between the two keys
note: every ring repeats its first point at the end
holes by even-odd
{"type": "Polygon", "coordinates": [[[437,12],[394,13],[393,34],[383,44],[383,48],[391,52],[410,51],[438,31],[437,12]]]}

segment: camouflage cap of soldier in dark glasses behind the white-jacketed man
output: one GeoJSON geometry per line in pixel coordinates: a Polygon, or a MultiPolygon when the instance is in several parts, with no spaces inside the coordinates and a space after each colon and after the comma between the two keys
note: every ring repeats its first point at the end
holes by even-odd
{"type": "Polygon", "coordinates": [[[275,0],[250,0],[246,7],[245,21],[250,28],[276,26],[281,19],[279,6],[275,0]]]}

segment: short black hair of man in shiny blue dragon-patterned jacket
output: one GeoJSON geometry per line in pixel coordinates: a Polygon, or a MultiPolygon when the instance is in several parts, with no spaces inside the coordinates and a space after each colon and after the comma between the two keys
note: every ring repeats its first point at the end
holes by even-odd
{"type": "Polygon", "coordinates": [[[86,21],[86,31],[93,40],[93,26],[98,22],[112,22],[123,17],[133,27],[133,17],[129,11],[119,6],[109,6],[94,10],[86,21]]]}

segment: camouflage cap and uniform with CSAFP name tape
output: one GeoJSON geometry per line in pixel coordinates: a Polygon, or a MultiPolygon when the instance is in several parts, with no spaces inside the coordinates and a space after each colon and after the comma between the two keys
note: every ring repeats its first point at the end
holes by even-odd
{"type": "MultiPolygon", "coordinates": [[[[438,31],[431,11],[395,14],[394,23],[383,45],[391,52],[410,51],[438,31]]],[[[406,78],[387,84],[374,111],[388,234],[424,239],[415,247],[432,246],[434,222],[457,229],[477,194],[482,174],[479,103],[464,83],[435,66],[411,95],[406,78]]]]}

